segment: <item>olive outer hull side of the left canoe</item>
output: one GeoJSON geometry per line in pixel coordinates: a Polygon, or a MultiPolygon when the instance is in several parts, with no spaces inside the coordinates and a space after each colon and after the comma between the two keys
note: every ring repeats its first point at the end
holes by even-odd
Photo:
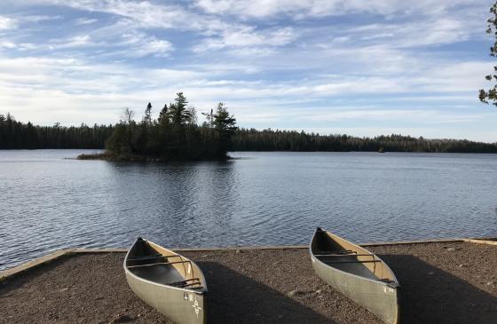
{"type": "Polygon", "coordinates": [[[207,322],[205,294],[176,288],[164,288],[151,281],[143,281],[130,272],[126,280],[137,296],[155,310],[176,323],[203,324],[207,322]]]}

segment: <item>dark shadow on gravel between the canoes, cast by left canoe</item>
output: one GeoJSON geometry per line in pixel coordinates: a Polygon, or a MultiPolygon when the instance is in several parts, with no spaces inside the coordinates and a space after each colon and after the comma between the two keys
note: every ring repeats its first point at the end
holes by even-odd
{"type": "Polygon", "coordinates": [[[215,262],[197,262],[209,289],[209,323],[333,323],[260,282],[215,262]]]}

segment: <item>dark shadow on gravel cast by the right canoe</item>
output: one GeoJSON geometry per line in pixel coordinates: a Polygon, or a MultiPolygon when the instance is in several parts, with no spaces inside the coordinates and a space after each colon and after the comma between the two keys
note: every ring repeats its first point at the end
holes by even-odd
{"type": "Polygon", "coordinates": [[[495,323],[494,296],[417,257],[379,256],[400,282],[402,323],[495,323]]]}

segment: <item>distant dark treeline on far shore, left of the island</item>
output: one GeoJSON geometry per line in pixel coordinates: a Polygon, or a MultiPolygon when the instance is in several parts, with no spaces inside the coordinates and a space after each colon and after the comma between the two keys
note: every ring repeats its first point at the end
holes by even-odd
{"type": "Polygon", "coordinates": [[[103,148],[114,130],[112,125],[81,124],[79,127],[35,126],[0,115],[0,149],[103,148]]]}

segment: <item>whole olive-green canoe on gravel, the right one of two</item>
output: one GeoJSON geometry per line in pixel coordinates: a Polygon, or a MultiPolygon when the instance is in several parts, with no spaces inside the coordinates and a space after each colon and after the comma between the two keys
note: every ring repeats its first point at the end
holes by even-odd
{"type": "Polygon", "coordinates": [[[312,268],[323,281],[384,322],[398,323],[398,280],[381,258],[320,228],[310,253],[312,268]]]}

